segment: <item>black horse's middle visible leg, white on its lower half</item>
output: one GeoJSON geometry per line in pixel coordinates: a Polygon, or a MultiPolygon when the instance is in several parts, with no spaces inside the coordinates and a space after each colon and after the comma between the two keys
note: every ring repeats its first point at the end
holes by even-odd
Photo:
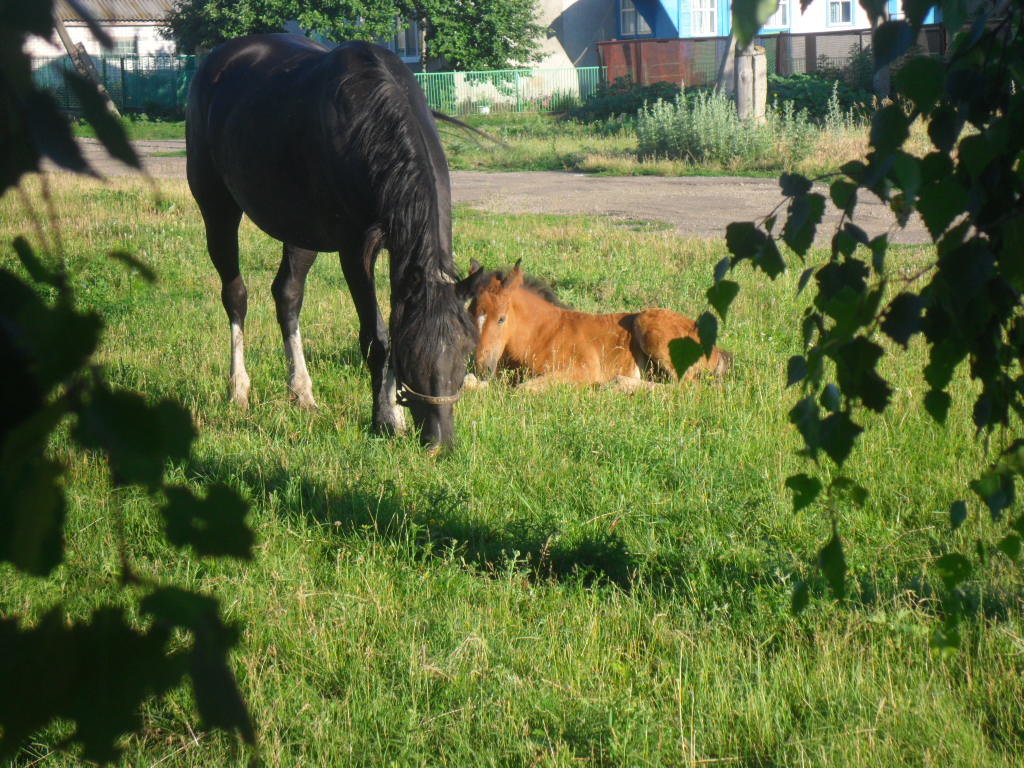
{"type": "Polygon", "coordinates": [[[301,408],[316,408],[316,401],[313,399],[313,383],[309,378],[306,356],[302,351],[302,333],[299,331],[299,312],[302,311],[306,275],[315,259],[315,251],[307,251],[286,243],[281,257],[281,267],[270,289],[278,309],[281,336],[285,341],[285,356],[288,358],[288,390],[292,399],[301,408]]]}

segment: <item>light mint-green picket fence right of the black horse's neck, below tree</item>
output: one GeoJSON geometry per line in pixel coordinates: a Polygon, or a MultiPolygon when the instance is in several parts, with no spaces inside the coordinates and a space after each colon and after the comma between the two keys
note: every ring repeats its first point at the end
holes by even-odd
{"type": "Polygon", "coordinates": [[[561,112],[582,103],[604,81],[604,68],[418,73],[430,106],[447,115],[561,112]]]}

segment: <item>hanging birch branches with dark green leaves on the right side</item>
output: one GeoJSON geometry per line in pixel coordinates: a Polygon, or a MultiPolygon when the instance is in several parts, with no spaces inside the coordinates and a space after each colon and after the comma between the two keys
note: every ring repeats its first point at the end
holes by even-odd
{"type": "MultiPolygon", "coordinates": [[[[882,15],[880,4],[863,5],[882,15]]],[[[798,507],[822,500],[831,515],[834,534],[818,565],[842,598],[846,555],[835,532],[837,499],[852,495],[862,504],[867,498],[842,470],[862,435],[870,435],[867,412],[884,414],[892,406],[895,392],[882,373],[887,358],[895,347],[923,344],[927,390],[920,408],[943,424],[955,400],[973,398],[976,434],[994,450],[970,483],[972,503],[949,504],[949,522],[954,529],[979,526],[979,511],[987,511],[1000,535],[987,541],[979,534],[967,553],[943,547],[933,562],[944,620],[932,641],[953,648],[961,644],[968,586],[983,584],[1004,564],[1019,568],[1024,541],[1024,517],[1015,511],[1017,478],[1024,472],[1024,440],[1016,437],[1024,416],[1024,7],[980,5],[968,15],[956,0],[908,3],[905,20],[883,22],[874,32],[877,68],[908,52],[932,7],[955,32],[948,60],[919,56],[902,65],[896,82],[905,106],[876,112],[865,162],[847,163],[831,179],[828,198],[843,216],[829,257],[801,263],[800,289],[811,287],[812,303],[800,324],[804,353],[787,367],[788,384],[799,384],[803,394],[790,421],[821,477],[802,473],[787,483],[798,507]],[[934,146],[923,158],[903,151],[918,120],[928,126],[934,146]],[[911,272],[892,268],[889,233],[869,238],[853,221],[865,195],[889,206],[900,224],[921,216],[935,243],[927,264],[911,272]],[[963,375],[972,386],[961,383],[963,375]]],[[[807,258],[825,196],[802,176],[783,175],[779,183],[787,199],[781,226],[775,213],[760,225],[730,224],[732,256],[716,269],[713,292],[743,262],[774,280],[787,262],[807,258]],[[786,259],[780,242],[797,259],[786,259]]],[[[717,307],[723,316],[725,308],[717,307]]],[[[806,604],[806,588],[800,588],[794,607],[806,604]]]]}

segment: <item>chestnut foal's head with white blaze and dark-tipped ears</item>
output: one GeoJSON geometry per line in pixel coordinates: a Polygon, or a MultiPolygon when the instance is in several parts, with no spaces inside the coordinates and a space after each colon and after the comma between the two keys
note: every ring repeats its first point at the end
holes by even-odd
{"type": "Polygon", "coordinates": [[[469,314],[479,332],[476,374],[480,378],[494,375],[515,328],[512,296],[523,283],[520,262],[517,261],[512,270],[502,278],[495,272],[484,272],[474,261],[469,276],[460,284],[460,287],[467,285],[473,289],[463,290],[463,293],[470,298],[469,314]]]}

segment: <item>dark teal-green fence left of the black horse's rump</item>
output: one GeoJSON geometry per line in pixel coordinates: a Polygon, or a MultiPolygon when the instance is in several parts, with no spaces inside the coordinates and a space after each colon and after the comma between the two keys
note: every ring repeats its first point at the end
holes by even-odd
{"type": "MultiPolygon", "coordinates": [[[[92,63],[122,112],[153,116],[180,116],[196,72],[196,56],[93,56],[92,63]]],[[[70,56],[35,58],[32,77],[68,112],[80,106],[65,82],[63,72],[75,69],[70,56]]]]}

